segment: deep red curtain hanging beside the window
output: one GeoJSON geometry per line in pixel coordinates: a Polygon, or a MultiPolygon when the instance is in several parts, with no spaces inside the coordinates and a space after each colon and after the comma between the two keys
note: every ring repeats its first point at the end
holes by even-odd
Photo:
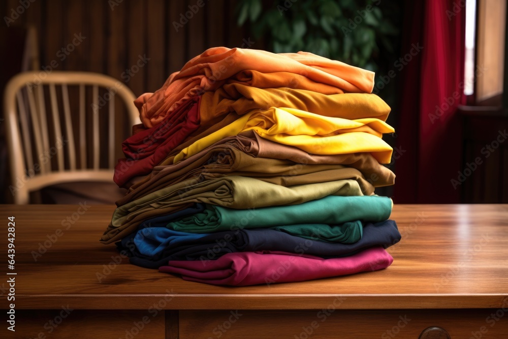
{"type": "Polygon", "coordinates": [[[461,168],[457,106],[463,95],[465,0],[405,3],[401,111],[395,160],[396,203],[458,203],[461,168]]]}

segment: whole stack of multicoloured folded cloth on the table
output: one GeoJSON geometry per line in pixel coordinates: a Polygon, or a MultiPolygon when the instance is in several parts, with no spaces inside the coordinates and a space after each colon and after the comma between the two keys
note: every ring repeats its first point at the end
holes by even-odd
{"type": "Polygon", "coordinates": [[[102,236],[132,264],[214,285],[388,267],[400,240],[374,74],[311,53],[216,47],[140,96],[128,188],[102,236]]]}

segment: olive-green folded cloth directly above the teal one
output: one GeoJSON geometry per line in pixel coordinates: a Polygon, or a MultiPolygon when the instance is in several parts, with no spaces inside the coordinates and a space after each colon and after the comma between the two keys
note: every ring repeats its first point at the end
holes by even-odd
{"type": "Polygon", "coordinates": [[[198,177],[181,181],[116,208],[101,241],[110,243],[130,234],[143,220],[153,217],[154,210],[168,213],[192,202],[245,209],[300,204],[329,195],[363,195],[358,181],[351,179],[290,187],[237,175],[199,180],[198,177]]]}

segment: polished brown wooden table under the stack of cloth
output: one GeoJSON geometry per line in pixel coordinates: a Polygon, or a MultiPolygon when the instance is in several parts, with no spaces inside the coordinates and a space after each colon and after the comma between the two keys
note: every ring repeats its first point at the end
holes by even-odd
{"type": "Polygon", "coordinates": [[[16,229],[0,283],[8,310],[15,277],[16,332],[4,321],[0,337],[508,338],[508,205],[395,205],[389,268],[236,288],[129,264],[99,242],[113,210],[0,206],[3,253],[8,217],[16,229]]]}

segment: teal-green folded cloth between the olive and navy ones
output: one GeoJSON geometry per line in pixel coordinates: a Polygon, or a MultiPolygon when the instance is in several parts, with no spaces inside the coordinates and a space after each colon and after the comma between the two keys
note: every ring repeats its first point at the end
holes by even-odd
{"type": "Polygon", "coordinates": [[[336,225],[356,220],[376,223],[387,220],[391,212],[392,200],[388,197],[332,195],[298,205],[259,209],[207,205],[203,212],[171,222],[166,227],[180,232],[211,233],[298,224],[336,225]]]}

